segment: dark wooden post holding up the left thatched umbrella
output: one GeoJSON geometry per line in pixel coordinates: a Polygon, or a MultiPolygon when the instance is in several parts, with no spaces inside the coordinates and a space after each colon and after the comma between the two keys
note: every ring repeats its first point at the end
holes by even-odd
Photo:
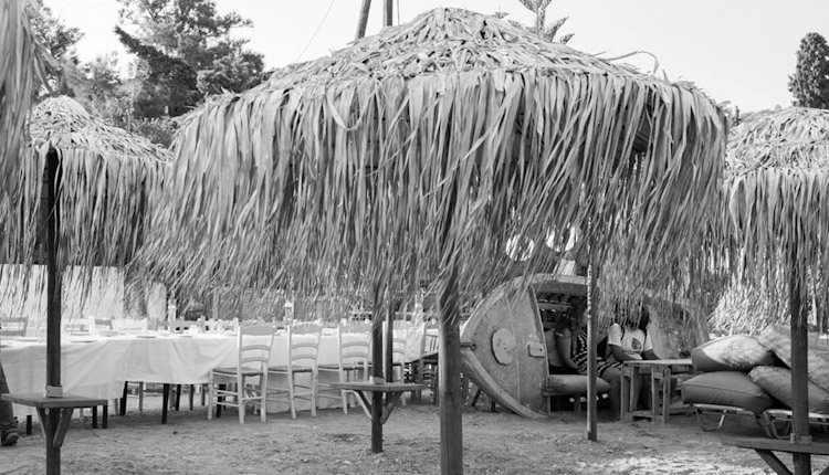
{"type": "MultiPolygon", "coordinates": [[[[41,220],[43,222],[43,245],[46,260],[46,386],[61,386],[61,275],[57,268],[57,152],[54,149],[46,154],[41,196],[41,220]]],[[[61,473],[61,447],[54,444],[61,411],[45,410],[44,425],[46,432],[46,474],[61,473]],[[48,421],[48,422],[46,422],[48,421]]]]}

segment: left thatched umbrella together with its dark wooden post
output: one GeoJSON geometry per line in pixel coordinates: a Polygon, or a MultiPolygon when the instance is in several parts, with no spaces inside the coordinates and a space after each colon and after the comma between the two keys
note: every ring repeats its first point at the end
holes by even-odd
{"type": "MultiPolygon", "coordinates": [[[[49,98],[29,117],[15,211],[4,232],[11,258],[28,276],[35,241],[46,264],[46,388],[61,387],[61,276],[70,266],[127,264],[147,232],[147,199],[169,170],[166,149],[107,126],[67,97],[49,98]],[[45,170],[45,171],[44,171],[45,170]]],[[[91,272],[87,276],[91,275],[91,272]]],[[[85,285],[88,287],[88,284],[85,285]]],[[[46,472],[60,473],[52,442],[59,411],[45,423],[46,472]]]]}

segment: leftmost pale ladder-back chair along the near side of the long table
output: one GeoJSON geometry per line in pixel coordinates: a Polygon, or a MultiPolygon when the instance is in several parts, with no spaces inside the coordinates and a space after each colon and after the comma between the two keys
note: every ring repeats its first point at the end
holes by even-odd
{"type": "Polygon", "coordinates": [[[224,405],[239,410],[239,423],[244,424],[249,404],[259,408],[262,422],[267,413],[267,365],[273,348],[271,325],[242,326],[237,331],[239,358],[234,368],[213,368],[208,382],[208,420],[213,418],[213,407],[224,405]]]}

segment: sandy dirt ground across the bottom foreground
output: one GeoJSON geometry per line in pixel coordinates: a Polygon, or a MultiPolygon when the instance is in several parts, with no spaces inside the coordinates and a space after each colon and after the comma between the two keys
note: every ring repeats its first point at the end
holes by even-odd
{"type": "MultiPolygon", "coordinates": [[[[384,428],[382,454],[370,453],[370,424],[351,409],[270,414],[266,423],[235,410],[208,421],[197,405],[170,412],[161,425],[160,397],[149,394],[143,413],[129,400],[126,416],[111,415],[106,430],[76,418],[62,450],[63,474],[436,474],[440,473],[439,408],[428,402],[397,408],[384,428]]],[[[586,439],[584,412],[554,412],[527,420],[486,400],[463,413],[466,474],[773,474],[754,452],[724,446],[728,435],[762,435],[751,420],[730,419],[703,432],[693,415],[665,425],[621,423],[599,410],[598,442],[586,439]]],[[[22,428],[21,428],[22,430],[22,428]]],[[[21,435],[22,432],[21,432],[21,435]]],[[[816,434],[816,439],[829,434],[816,434]]],[[[43,437],[0,447],[0,474],[43,474],[43,437]]],[[[790,461],[785,460],[787,463],[790,461]]],[[[816,457],[816,473],[829,457],[816,457]]]]}

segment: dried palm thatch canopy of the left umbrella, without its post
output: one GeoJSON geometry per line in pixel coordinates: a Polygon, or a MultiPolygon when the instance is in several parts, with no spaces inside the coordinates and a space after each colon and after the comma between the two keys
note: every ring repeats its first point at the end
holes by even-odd
{"type": "Polygon", "coordinates": [[[148,232],[148,197],[169,170],[169,151],[107,126],[69,97],[48,98],[29,117],[7,233],[9,262],[36,258],[41,188],[48,154],[59,172],[59,268],[124,266],[148,232]]]}

